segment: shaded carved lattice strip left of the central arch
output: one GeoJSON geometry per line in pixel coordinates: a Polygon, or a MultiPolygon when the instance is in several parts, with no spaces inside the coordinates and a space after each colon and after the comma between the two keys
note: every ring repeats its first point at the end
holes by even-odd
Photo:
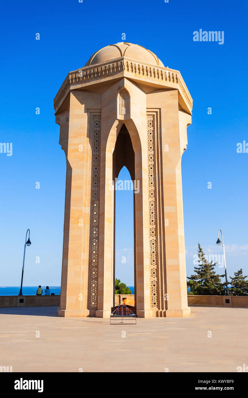
{"type": "Polygon", "coordinates": [[[101,116],[92,120],[92,169],[90,202],[89,308],[98,306],[99,197],[100,197],[101,116]],[[93,238],[93,239],[92,239],[93,238]]]}

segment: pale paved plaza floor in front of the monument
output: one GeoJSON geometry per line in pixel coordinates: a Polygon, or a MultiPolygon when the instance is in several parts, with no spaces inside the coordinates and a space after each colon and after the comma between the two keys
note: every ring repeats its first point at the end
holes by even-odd
{"type": "Polygon", "coordinates": [[[13,372],[236,372],[248,365],[247,334],[248,308],[191,307],[188,318],[137,318],[137,325],[60,318],[55,306],[0,308],[0,366],[13,372]]]}

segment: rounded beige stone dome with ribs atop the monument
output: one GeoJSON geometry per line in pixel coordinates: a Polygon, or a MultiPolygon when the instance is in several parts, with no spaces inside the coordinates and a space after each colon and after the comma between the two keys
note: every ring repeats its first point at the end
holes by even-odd
{"type": "Polygon", "coordinates": [[[139,62],[164,67],[164,64],[152,51],[145,49],[139,44],[125,43],[123,41],[117,44],[110,44],[98,50],[84,66],[100,64],[119,57],[132,58],[139,62]]]}

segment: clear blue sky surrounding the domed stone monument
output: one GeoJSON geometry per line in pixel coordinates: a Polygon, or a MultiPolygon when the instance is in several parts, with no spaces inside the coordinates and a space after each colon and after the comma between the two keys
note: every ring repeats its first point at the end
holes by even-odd
{"type": "MultiPolygon", "coordinates": [[[[12,142],[13,154],[0,154],[0,286],[20,284],[27,228],[32,244],[23,284],[60,285],[66,164],[53,98],[70,70],[84,66],[98,49],[120,42],[122,33],[125,41],[154,51],[166,66],[180,70],[193,98],[182,158],[187,275],[193,271],[197,242],[208,254],[221,254],[215,244],[219,227],[228,275],[240,267],[248,273],[248,153],[236,152],[238,142],[248,142],[247,3],[5,1],[0,142],[12,142]],[[194,42],[193,31],[199,29],[224,31],[224,44],[194,42]],[[35,189],[37,181],[40,189],[35,189]],[[209,181],[212,189],[207,189],[209,181]]],[[[121,173],[129,178],[125,170],[121,173]]],[[[131,207],[131,192],[118,195],[116,276],[129,285],[133,220],[122,213],[131,214],[131,207]]]]}

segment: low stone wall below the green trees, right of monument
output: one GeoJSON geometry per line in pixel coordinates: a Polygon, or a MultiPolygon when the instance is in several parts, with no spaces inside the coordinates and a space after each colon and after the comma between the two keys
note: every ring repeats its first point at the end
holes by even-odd
{"type": "Polygon", "coordinates": [[[188,306],[247,307],[248,296],[188,295],[188,306]]]}

